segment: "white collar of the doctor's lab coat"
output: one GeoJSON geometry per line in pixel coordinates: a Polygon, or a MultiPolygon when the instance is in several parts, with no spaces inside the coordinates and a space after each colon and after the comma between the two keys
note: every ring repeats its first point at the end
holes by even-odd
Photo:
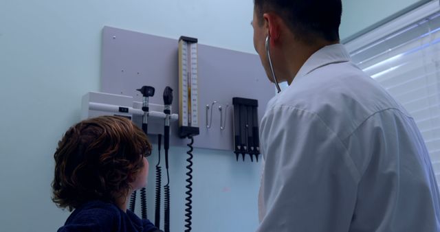
{"type": "MultiPolygon", "coordinates": [[[[316,51],[301,67],[300,71],[296,74],[293,82],[306,76],[307,74],[324,67],[326,65],[349,62],[351,60],[349,52],[345,49],[344,45],[335,44],[322,47],[322,49],[316,51]]],[[[292,83],[293,83],[292,82],[292,83]]]]}

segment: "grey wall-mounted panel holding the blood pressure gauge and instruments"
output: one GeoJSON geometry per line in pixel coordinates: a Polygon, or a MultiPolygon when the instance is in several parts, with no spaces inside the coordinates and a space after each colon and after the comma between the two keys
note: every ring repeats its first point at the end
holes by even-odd
{"type": "MultiPolygon", "coordinates": [[[[178,121],[170,123],[170,146],[186,146],[181,137],[199,134],[195,148],[233,151],[232,97],[258,100],[265,106],[275,95],[274,86],[258,55],[198,42],[185,36],[172,39],[104,27],[101,91],[142,102],[140,86],[153,86],[157,92],[169,86],[176,98],[172,113],[179,115],[178,121]]],[[[148,101],[162,106],[157,110],[162,112],[162,97],[156,94],[148,101]]],[[[257,109],[259,119],[264,110],[257,109]]],[[[155,135],[152,126],[148,121],[148,133],[155,135]]]]}

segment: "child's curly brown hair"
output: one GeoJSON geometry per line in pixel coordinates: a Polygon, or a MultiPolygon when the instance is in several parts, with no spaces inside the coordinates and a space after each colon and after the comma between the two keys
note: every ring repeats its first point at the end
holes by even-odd
{"type": "Polygon", "coordinates": [[[129,119],[81,121],[58,142],[52,200],[69,211],[90,200],[115,202],[129,193],[143,157],[150,153],[146,135],[129,119]]]}

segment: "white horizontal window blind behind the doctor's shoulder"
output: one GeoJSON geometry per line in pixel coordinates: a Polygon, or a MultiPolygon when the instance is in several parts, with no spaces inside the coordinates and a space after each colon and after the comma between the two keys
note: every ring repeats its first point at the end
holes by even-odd
{"type": "MultiPolygon", "coordinates": [[[[371,41],[371,40],[370,40],[371,41]]],[[[350,51],[414,117],[440,183],[440,13],[350,51]]]]}

